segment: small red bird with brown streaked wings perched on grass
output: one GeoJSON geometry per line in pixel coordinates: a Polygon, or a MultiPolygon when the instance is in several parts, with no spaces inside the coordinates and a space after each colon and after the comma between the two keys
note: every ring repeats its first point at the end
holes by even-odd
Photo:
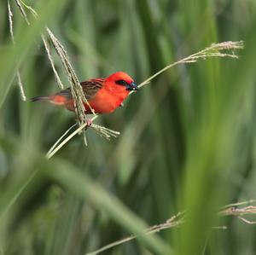
{"type": "MultiPolygon", "coordinates": [[[[122,106],[130,91],[138,90],[137,84],[125,72],[114,72],[108,78],[92,78],[80,84],[84,96],[90,104],[89,106],[84,101],[87,114],[91,113],[90,107],[95,110],[95,113],[112,113],[117,107],[122,106]]],[[[66,107],[69,111],[74,111],[70,88],[50,96],[33,97],[32,101],[49,101],[55,105],[66,107]]]]}

